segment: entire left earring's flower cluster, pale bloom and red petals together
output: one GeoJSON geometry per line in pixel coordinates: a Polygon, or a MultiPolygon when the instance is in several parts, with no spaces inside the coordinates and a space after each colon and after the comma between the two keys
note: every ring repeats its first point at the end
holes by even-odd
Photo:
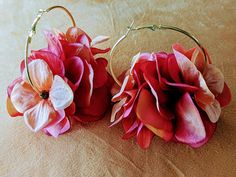
{"type": "Polygon", "coordinates": [[[45,31],[45,36],[48,47],[29,57],[32,84],[22,62],[21,76],[7,90],[7,109],[12,117],[23,115],[31,130],[57,137],[69,130],[72,118],[90,122],[104,116],[110,106],[111,79],[106,59],[96,55],[110,49],[95,47],[108,37],[91,40],[77,27],[65,34],[45,31]]]}

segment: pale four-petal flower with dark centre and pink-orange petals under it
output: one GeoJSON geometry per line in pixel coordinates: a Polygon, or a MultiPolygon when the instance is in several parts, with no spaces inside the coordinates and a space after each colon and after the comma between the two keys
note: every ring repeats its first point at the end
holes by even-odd
{"type": "Polygon", "coordinates": [[[8,112],[11,116],[24,115],[32,131],[44,130],[57,137],[70,128],[65,109],[72,104],[73,92],[59,75],[53,75],[43,60],[30,62],[29,73],[34,87],[29,84],[25,70],[8,87],[8,112]]]}

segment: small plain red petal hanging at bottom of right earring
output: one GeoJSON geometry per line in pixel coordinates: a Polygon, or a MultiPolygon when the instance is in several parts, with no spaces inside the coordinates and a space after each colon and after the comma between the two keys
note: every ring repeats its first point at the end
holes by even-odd
{"type": "Polygon", "coordinates": [[[143,149],[147,149],[151,144],[153,135],[150,130],[143,126],[136,138],[138,145],[143,149]]]}

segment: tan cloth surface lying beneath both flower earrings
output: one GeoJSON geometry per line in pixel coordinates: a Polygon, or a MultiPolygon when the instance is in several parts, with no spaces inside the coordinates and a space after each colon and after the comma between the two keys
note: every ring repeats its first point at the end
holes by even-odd
{"type": "MultiPolygon", "coordinates": [[[[137,25],[164,23],[193,32],[236,95],[235,0],[0,0],[0,176],[236,176],[235,101],[223,110],[213,139],[200,149],[166,144],[156,137],[150,149],[141,150],[133,140],[121,140],[121,127],[108,128],[109,114],[96,123],[78,124],[57,139],[30,132],[21,117],[10,118],[5,110],[6,87],[19,75],[27,30],[39,8],[55,4],[70,9],[78,26],[92,37],[111,36],[108,45],[133,19],[137,25]]],[[[41,29],[65,30],[70,23],[66,20],[63,12],[44,17],[33,47],[45,45],[41,29]]],[[[127,68],[129,58],[140,50],[170,51],[174,42],[193,45],[174,32],[135,33],[120,46],[115,70],[127,68]]]]}

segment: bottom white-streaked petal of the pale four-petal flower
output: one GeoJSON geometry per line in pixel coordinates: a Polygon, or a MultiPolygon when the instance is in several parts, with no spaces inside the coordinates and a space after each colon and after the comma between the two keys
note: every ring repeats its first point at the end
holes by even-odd
{"type": "Polygon", "coordinates": [[[42,100],[24,113],[24,121],[32,131],[37,132],[50,122],[50,115],[53,113],[54,109],[47,101],[42,100]]]}

